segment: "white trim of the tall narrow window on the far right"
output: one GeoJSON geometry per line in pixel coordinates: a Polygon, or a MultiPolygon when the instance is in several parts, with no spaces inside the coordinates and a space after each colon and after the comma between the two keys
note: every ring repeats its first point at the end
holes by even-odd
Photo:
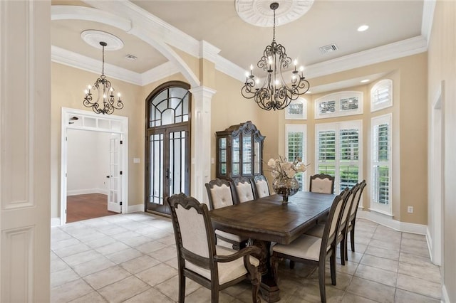
{"type": "Polygon", "coordinates": [[[382,213],[383,215],[387,216],[393,216],[393,114],[389,113],[386,115],[378,116],[378,117],[373,117],[371,119],[371,207],[369,210],[375,211],[378,213],[382,213]],[[374,134],[374,128],[376,125],[380,124],[389,124],[389,156],[388,156],[388,161],[375,161],[374,159],[374,144],[375,144],[375,134],[374,134]],[[373,166],[382,164],[382,165],[387,165],[388,166],[388,205],[378,203],[375,201],[375,184],[374,184],[374,169],[373,166]]]}

